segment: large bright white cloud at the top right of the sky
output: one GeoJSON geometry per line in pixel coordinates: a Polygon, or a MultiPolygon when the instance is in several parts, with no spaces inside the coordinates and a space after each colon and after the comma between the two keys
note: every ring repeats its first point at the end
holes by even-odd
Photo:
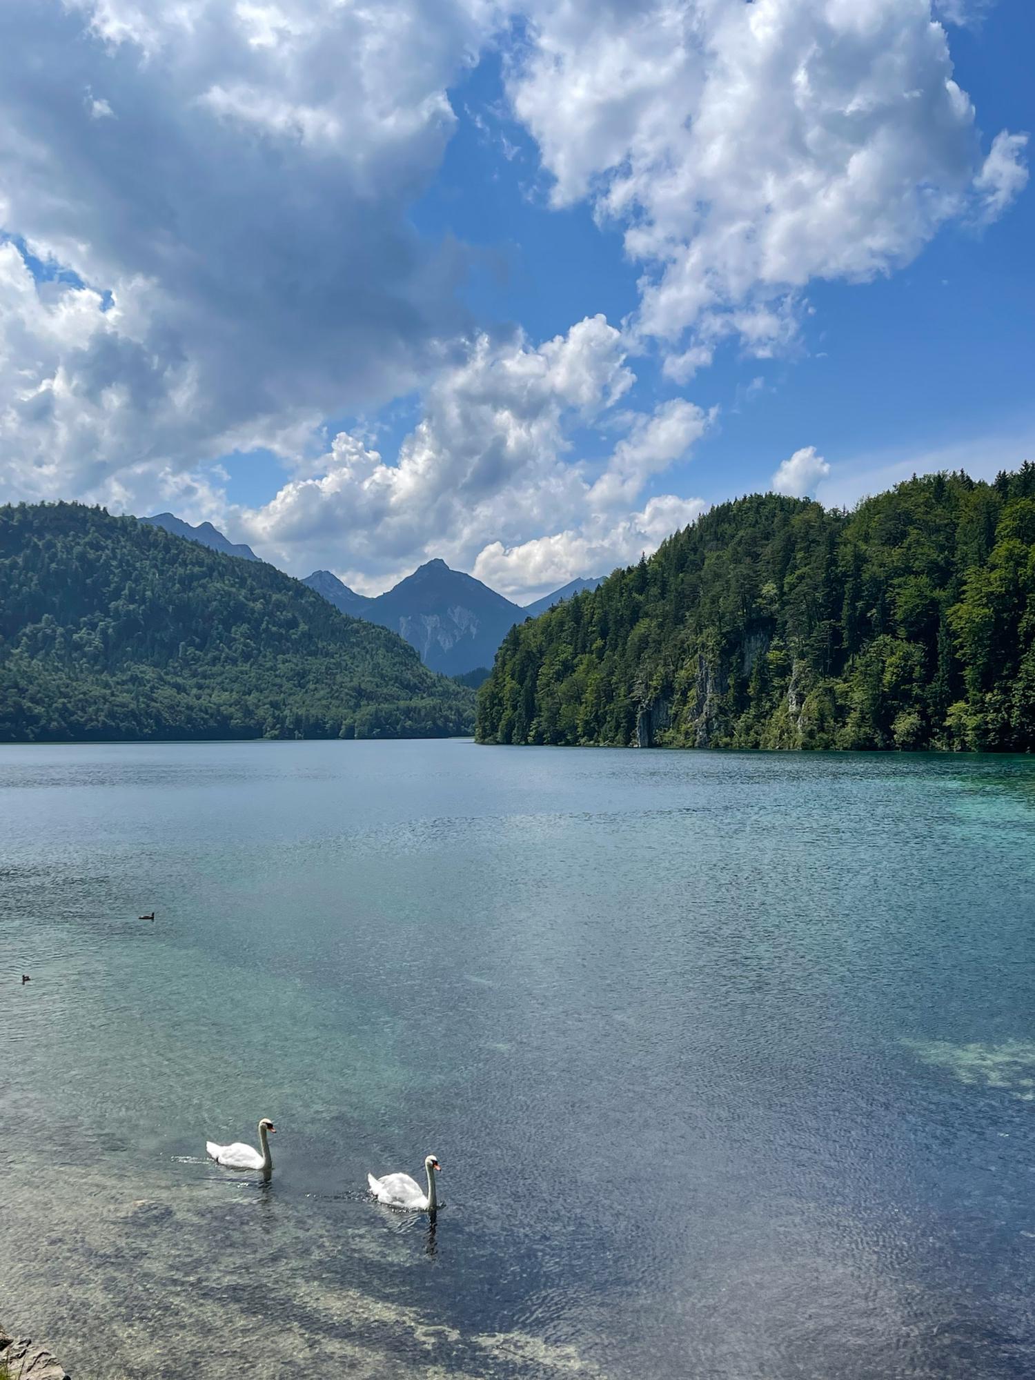
{"type": "Polygon", "coordinates": [[[983,163],[929,0],[549,0],[509,92],[553,203],[647,265],[635,326],[676,379],[724,337],[785,346],[810,280],[886,273],[1025,179],[1017,137],[983,163]]]}

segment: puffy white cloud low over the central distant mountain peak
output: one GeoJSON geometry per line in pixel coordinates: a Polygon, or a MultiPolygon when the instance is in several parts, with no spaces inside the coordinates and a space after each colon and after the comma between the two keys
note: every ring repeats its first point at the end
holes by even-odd
{"type": "Polygon", "coordinates": [[[635,511],[709,417],[684,399],[615,411],[632,384],[624,338],[603,316],[538,348],[520,334],[480,337],[428,389],[395,461],[342,432],[312,475],[240,512],[239,530],[298,573],[334,560],[360,589],[381,588],[429,555],[491,573],[511,592],[564,582],[580,560],[610,569],[653,551],[700,511],[696,500],[687,506],[671,497],[635,511]],[[618,439],[591,462],[573,433],[603,421],[618,439]]]}

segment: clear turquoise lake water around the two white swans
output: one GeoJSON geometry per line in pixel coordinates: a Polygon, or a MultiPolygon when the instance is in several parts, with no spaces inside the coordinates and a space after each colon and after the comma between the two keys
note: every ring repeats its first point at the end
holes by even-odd
{"type": "Polygon", "coordinates": [[[1031,1376],[1034,825],[1020,758],[3,748],[0,1321],[83,1380],[1031,1376]],[[261,1115],[269,1185],[204,1162],[261,1115]],[[364,1195],[428,1152],[433,1232],[364,1195]]]}

